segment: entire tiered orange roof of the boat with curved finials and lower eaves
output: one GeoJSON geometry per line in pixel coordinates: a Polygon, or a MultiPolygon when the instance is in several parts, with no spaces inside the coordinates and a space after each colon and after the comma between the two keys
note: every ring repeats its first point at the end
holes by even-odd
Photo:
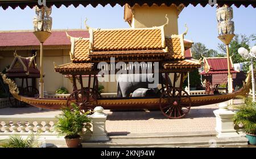
{"type": "MultiPolygon", "coordinates": [[[[167,19],[168,23],[168,19],[167,19]]],[[[101,30],[89,28],[89,38],[67,36],[71,40],[71,63],[55,65],[56,72],[90,72],[98,62],[159,61],[164,69],[199,68],[197,60],[185,60],[185,48],[192,41],[185,41],[181,35],[164,36],[164,24],[152,28],[129,28],[101,30]]]]}

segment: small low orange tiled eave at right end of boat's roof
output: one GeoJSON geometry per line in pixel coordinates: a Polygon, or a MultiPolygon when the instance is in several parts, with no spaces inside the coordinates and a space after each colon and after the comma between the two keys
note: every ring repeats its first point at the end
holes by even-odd
{"type": "Polygon", "coordinates": [[[200,68],[201,64],[198,60],[182,60],[163,62],[165,69],[173,68],[200,68]]]}

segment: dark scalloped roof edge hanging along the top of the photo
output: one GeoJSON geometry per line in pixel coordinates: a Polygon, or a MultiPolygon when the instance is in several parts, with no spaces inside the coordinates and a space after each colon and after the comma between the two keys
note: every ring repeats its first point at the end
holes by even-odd
{"type": "MultiPolygon", "coordinates": [[[[219,6],[223,6],[228,5],[235,5],[237,7],[240,7],[241,5],[247,7],[249,5],[253,6],[254,8],[256,7],[256,0],[218,0],[218,5],[219,6]]],[[[73,5],[74,7],[78,7],[79,5],[82,6],[88,6],[88,5],[92,5],[93,7],[98,6],[99,4],[102,6],[106,6],[108,4],[110,4],[112,7],[114,7],[115,5],[125,5],[128,4],[130,6],[134,6],[135,4],[138,5],[143,5],[144,3],[147,3],[149,6],[153,5],[154,3],[158,6],[162,5],[163,3],[165,3],[167,6],[170,5],[184,5],[185,7],[187,7],[188,5],[201,5],[203,7],[205,7],[206,5],[209,4],[209,0],[133,0],[133,1],[125,1],[125,0],[98,0],[98,1],[91,1],[91,0],[66,0],[66,1],[59,1],[59,0],[47,0],[47,6],[56,6],[57,8],[59,8],[61,5],[64,5],[66,7],[73,5]]],[[[27,0],[19,0],[19,1],[13,1],[13,0],[5,0],[5,1],[1,1],[0,2],[0,7],[2,7],[4,10],[7,9],[9,6],[12,7],[13,9],[15,9],[16,7],[20,7],[20,9],[24,9],[27,6],[29,6],[31,9],[32,7],[38,5],[38,1],[27,1],[27,0]]]]}

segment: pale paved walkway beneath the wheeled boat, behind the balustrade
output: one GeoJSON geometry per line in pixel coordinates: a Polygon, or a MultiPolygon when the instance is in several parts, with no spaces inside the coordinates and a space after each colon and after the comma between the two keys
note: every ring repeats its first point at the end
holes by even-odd
{"type": "MultiPolygon", "coordinates": [[[[241,103],[241,100],[235,100],[241,103]]],[[[166,119],[158,111],[110,111],[106,121],[106,130],[112,133],[156,133],[156,132],[200,132],[214,131],[216,119],[213,110],[217,104],[192,107],[189,114],[183,119],[166,119]]],[[[59,114],[59,110],[42,110],[36,107],[27,108],[1,108],[1,115],[21,116],[49,116],[59,114]]]]}

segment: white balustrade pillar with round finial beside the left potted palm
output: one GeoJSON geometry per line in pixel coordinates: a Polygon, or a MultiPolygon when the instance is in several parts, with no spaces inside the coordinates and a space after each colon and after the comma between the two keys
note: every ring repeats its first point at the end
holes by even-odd
{"type": "Polygon", "coordinates": [[[108,115],[103,112],[104,108],[102,107],[96,107],[94,111],[94,114],[90,116],[93,125],[90,141],[108,141],[109,137],[106,132],[106,118],[108,115]]]}

